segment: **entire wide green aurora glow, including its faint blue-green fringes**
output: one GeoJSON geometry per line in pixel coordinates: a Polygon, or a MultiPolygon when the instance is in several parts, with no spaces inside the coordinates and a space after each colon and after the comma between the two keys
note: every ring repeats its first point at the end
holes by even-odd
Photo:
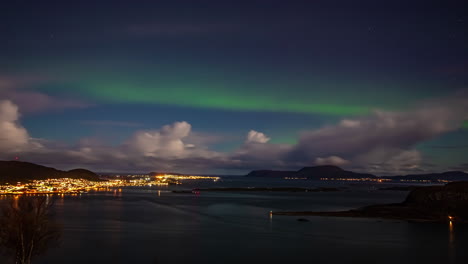
{"type": "Polygon", "coordinates": [[[102,103],[355,116],[369,114],[373,109],[402,110],[421,99],[420,94],[401,92],[405,86],[413,85],[411,82],[377,85],[339,76],[291,80],[271,75],[253,78],[245,72],[232,74],[195,67],[148,70],[95,65],[86,69],[81,64],[48,69],[52,70],[46,75],[61,76],[61,80],[41,89],[74,93],[102,103]]]}

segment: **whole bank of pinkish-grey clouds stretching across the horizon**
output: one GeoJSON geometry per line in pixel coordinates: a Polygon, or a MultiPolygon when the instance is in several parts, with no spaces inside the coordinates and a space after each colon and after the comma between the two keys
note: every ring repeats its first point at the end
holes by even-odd
{"type": "MultiPolygon", "coordinates": [[[[60,168],[97,171],[248,171],[337,165],[379,175],[434,169],[416,147],[468,120],[466,96],[427,101],[407,111],[380,111],[303,131],[295,144],[271,143],[263,132],[250,130],[234,150],[213,150],[215,134],[192,131],[186,121],[159,129],[136,130],[117,145],[81,140],[74,145],[33,138],[20,123],[11,100],[0,101],[2,159],[22,160],[60,168]]],[[[447,168],[439,168],[447,169],[447,168]]]]}

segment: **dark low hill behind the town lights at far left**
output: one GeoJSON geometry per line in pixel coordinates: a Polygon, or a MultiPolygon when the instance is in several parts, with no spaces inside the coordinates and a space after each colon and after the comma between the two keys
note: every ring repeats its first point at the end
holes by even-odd
{"type": "Polygon", "coordinates": [[[0,182],[24,182],[29,180],[73,178],[99,181],[99,176],[85,169],[61,171],[23,161],[0,161],[0,182]]]}

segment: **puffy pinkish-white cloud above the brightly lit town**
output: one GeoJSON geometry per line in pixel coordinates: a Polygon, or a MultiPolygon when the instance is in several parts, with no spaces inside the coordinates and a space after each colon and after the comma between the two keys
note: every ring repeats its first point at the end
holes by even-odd
{"type": "Polygon", "coordinates": [[[157,130],[136,131],[118,146],[106,146],[91,138],[80,141],[75,148],[53,149],[47,155],[62,153],[60,162],[64,165],[71,166],[73,160],[74,164],[87,164],[99,170],[206,169],[224,162],[223,154],[194,144],[203,141],[198,137],[191,138],[191,125],[181,121],[157,130]]]}

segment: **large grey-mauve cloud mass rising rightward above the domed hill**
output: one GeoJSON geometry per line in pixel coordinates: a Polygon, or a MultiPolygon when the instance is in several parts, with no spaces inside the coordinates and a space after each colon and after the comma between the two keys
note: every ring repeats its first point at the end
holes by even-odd
{"type": "Polygon", "coordinates": [[[287,156],[303,162],[337,156],[367,171],[420,169],[422,155],[414,148],[459,129],[467,107],[466,97],[459,97],[426,102],[404,112],[376,110],[369,116],[302,133],[287,156]]]}

